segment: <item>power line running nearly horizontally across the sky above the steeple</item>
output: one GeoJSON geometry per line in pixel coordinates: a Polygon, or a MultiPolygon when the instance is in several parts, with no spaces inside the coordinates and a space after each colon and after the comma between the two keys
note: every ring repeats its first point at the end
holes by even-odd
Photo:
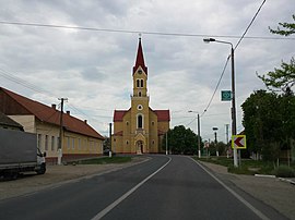
{"type": "MultiPolygon", "coordinates": [[[[69,26],[69,25],[56,25],[56,24],[39,24],[39,23],[25,23],[25,22],[8,22],[0,21],[0,24],[4,25],[19,25],[19,26],[34,26],[34,27],[46,27],[46,28],[63,28],[63,29],[80,29],[91,32],[107,32],[107,33],[121,33],[121,34],[144,34],[144,35],[158,35],[158,36],[175,36],[175,37],[215,37],[215,38],[233,38],[239,39],[240,36],[234,35],[206,35],[206,34],[187,34],[187,33],[165,33],[165,32],[146,32],[146,30],[132,30],[132,29],[115,29],[115,28],[97,28],[97,27],[83,27],[83,26],[69,26]]],[[[267,36],[248,36],[244,37],[248,39],[264,39],[264,40],[295,40],[295,38],[288,37],[267,37],[267,36]]]]}

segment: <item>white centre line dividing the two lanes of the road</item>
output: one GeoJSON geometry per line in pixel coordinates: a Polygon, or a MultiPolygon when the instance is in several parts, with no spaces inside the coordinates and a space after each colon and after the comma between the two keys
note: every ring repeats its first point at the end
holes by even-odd
{"type": "Polygon", "coordinates": [[[145,178],[143,181],[141,181],[138,185],[135,185],[133,188],[131,188],[130,191],[128,191],[126,194],[123,194],[121,197],[119,197],[113,204],[110,204],[105,209],[103,209],[99,213],[97,213],[95,217],[93,217],[92,220],[102,219],[106,213],[108,213],[111,209],[114,209],[116,206],[118,206],[123,199],[126,199],[128,196],[130,196],[132,193],[134,193],[141,185],[143,185],[146,181],[149,181],[156,173],[158,173],[162,169],[164,169],[170,161],[172,161],[172,158],[169,157],[168,162],[166,162],[164,166],[162,166],[160,169],[157,169],[151,175],[149,175],[148,178],[145,178]]]}

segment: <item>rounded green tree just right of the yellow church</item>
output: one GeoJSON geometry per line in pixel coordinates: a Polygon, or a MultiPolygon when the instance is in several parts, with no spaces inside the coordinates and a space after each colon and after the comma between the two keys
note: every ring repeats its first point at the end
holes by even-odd
{"type": "MultiPolygon", "coordinates": [[[[184,125],[175,126],[167,132],[168,147],[173,154],[193,155],[198,151],[198,135],[184,125]]],[[[162,142],[162,148],[166,149],[166,135],[162,142]]]]}

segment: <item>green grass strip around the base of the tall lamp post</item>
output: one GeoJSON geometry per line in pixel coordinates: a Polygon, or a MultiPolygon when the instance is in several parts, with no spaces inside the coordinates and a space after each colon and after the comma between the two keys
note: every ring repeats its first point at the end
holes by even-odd
{"type": "MultiPolygon", "coordinates": [[[[228,172],[236,173],[236,174],[248,174],[248,175],[274,174],[273,163],[269,162],[269,161],[263,161],[263,160],[241,159],[241,164],[238,168],[236,168],[236,167],[234,167],[233,158],[226,158],[226,157],[198,158],[198,157],[193,157],[193,159],[227,167],[228,172]]],[[[293,169],[293,170],[295,169],[294,162],[291,164],[291,169],[293,169]]]]}

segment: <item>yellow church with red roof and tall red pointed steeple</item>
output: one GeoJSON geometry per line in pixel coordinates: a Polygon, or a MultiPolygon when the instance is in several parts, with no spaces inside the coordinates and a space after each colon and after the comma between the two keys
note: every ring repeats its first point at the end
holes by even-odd
{"type": "Polygon", "coordinates": [[[111,150],[116,154],[163,152],[162,140],[169,130],[169,110],[153,110],[148,95],[148,68],[139,38],[135,65],[132,71],[133,94],[128,110],[114,111],[111,150]]]}

